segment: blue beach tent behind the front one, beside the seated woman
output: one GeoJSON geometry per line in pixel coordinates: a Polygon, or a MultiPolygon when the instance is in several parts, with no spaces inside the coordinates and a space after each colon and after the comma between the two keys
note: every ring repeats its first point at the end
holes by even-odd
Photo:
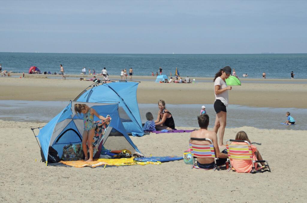
{"type": "Polygon", "coordinates": [[[94,85],[91,89],[84,90],[74,101],[119,103],[119,116],[126,131],[133,136],[143,136],[142,120],[136,98],[137,88],[138,82],[94,85]]]}

